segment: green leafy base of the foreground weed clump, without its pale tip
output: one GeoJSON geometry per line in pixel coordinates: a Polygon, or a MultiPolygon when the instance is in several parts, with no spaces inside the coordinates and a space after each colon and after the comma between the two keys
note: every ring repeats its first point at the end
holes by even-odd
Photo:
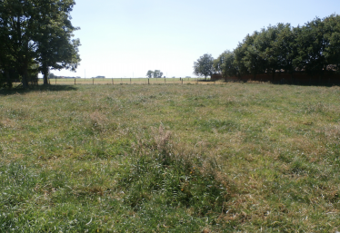
{"type": "Polygon", "coordinates": [[[121,174],[118,187],[127,193],[125,203],[138,210],[159,197],[165,206],[194,208],[198,216],[223,209],[229,193],[214,174],[204,174],[184,160],[168,159],[166,166],[164,162],[143,156],[121,174]]]}

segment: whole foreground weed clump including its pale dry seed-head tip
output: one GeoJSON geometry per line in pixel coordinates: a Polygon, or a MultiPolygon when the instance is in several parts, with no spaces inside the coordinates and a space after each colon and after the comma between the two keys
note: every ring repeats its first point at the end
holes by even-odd
{"type": "Polygon", "coordinates": [[[228,181],[218,179],[208,163],[199,166],[193,158],[175,154],[168,134],[160,134],[155,136],[155,150],[133,158],[122,170],[118,189],[125,190],[125,204],[138,211],[157,201],[165,208],[193,209],[196,217],[224,209],[231,195],[228,181]]]}

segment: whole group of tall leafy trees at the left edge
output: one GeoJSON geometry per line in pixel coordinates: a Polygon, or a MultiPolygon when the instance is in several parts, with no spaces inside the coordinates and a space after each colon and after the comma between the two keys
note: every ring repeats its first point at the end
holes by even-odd
{"type": "Polygon", "coordinates": [[[79,28],[71,24],[74,0],[0,0],[0,87],[24,87],[50,69],[75,71],[79,28]]]}

